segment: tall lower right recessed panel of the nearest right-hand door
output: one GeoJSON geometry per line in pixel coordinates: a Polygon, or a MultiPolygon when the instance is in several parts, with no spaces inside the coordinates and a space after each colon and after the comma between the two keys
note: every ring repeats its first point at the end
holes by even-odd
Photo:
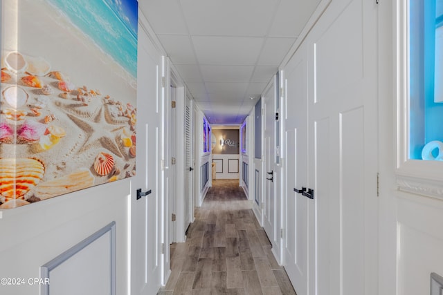
{"type": "Polygon", "coordinates": [[[340,115],[343,294],[365,294],[363,111],[361,107],[340,115]]]}

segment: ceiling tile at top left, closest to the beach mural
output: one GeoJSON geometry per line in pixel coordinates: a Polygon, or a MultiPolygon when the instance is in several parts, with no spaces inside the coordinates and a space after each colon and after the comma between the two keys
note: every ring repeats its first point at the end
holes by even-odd
{"type": "Polygon", "coordinates": [[[138,6],[157,35],[188,34],[183,12],[178,1],[138,1],[138,6]]]}

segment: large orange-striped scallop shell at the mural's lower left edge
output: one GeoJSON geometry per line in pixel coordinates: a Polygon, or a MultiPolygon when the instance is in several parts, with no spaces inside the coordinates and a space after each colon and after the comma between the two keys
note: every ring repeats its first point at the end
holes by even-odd
{"type": "Polygon", "coordinates": [[[0,159],[0,194],[8,199],[23,199],[44,175],[44,164],[33,158],[0,159]]]}

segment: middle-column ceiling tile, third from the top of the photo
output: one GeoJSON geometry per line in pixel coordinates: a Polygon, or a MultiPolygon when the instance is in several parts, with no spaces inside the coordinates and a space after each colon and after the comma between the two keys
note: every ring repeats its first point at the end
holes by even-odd
{"type": "Polygon", "coordinates": [[[249,82],[253,66],[200,66],[205,82],[249,82]]]}

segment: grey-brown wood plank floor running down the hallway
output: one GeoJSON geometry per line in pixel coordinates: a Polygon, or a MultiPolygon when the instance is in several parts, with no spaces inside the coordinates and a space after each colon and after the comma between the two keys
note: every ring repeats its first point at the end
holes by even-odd
{"type": "Polygon", "coordinates": [[[294,294],[238,180],[215,180],[186,242],[171,245],[164,294],[294,294]]]}

